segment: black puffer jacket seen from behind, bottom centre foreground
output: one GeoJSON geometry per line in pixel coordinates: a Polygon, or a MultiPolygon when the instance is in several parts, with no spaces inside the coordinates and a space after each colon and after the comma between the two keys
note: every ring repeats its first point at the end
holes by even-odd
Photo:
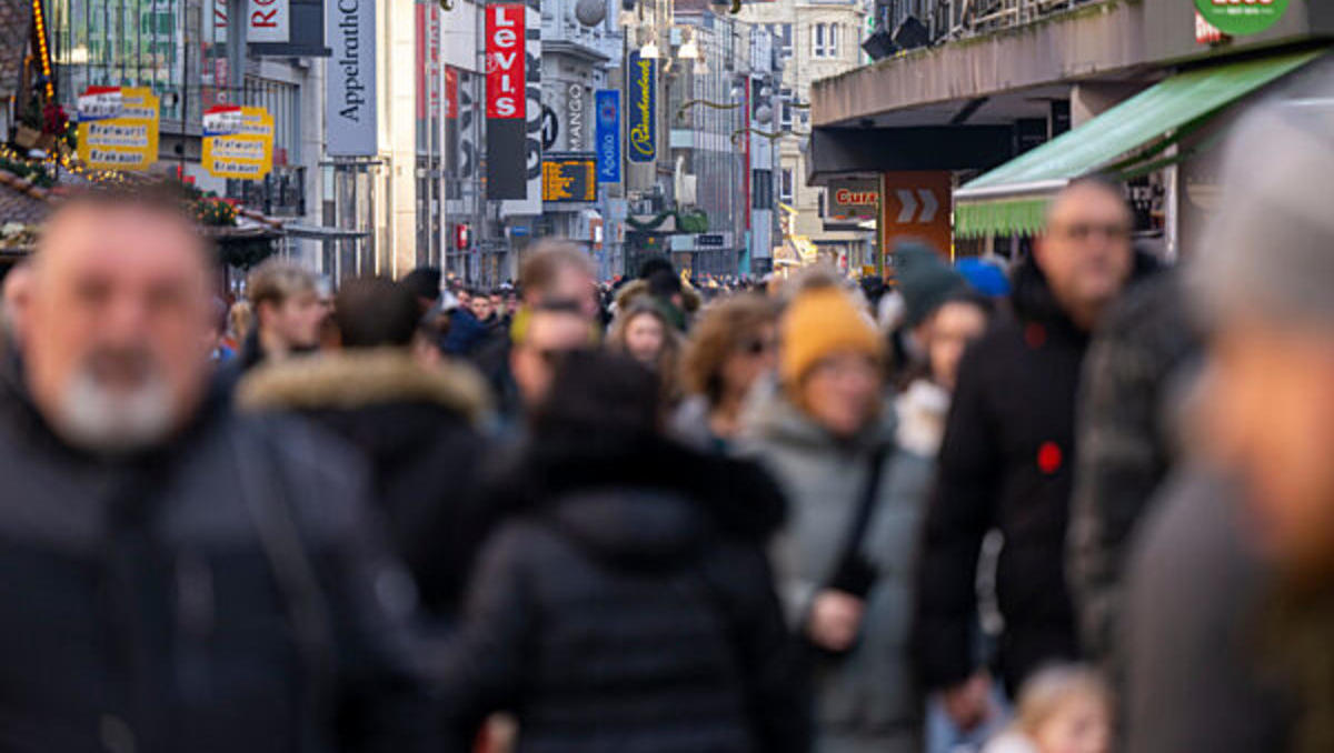
{"type": "Polygon", "coordinates": [[[810,744],[766,537],[782,498],[756,466],[662,440],[543,436],[496,490],[446,708],[542,753],[786,752],[810,744]]]}

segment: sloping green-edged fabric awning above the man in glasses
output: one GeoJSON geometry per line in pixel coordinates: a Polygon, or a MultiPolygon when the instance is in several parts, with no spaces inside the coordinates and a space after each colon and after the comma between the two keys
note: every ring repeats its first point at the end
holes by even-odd
{"type": "Polygon", "coordinates": [[[1134,177],[1174,164],[1186,155],[1155,157],[1229,104],[1323,53],[1246,60],[1159,81],[955,189],[955,235],[1034,233],[1042,228],[1047,201],[1070,180],[1099,171],[1134,177]]]}

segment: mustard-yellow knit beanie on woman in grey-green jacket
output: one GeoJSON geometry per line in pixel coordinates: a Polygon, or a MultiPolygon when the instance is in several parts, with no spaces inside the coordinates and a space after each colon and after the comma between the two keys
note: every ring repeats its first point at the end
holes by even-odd
{"type": "Polygon", "coordinates": [[[852,351],[876,360],[884,356],[884,343],[871,319],[838,288],[815,288],[796,296],[779,329],[783,339],[779,376],[787,385],[799,384],[831,353],[852,351]]]}

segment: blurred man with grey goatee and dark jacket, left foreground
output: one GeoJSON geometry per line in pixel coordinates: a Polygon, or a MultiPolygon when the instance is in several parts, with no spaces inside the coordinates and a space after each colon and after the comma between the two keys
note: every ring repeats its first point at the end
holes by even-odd
{"type": "Polygon", "coordinates": [[[43,232],[0,380],[0,748],[418,749],[410,581],[355,457],[208,390],[208,256],[125,193],[43,232]]]}

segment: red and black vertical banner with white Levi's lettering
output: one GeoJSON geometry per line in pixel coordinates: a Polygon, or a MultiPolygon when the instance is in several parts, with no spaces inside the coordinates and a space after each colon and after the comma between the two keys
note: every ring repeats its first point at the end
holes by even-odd
{"type": "Polygon", "coordinates": [[[487,5],[487,199],[527,199],[524,5],[487,5]]]}

